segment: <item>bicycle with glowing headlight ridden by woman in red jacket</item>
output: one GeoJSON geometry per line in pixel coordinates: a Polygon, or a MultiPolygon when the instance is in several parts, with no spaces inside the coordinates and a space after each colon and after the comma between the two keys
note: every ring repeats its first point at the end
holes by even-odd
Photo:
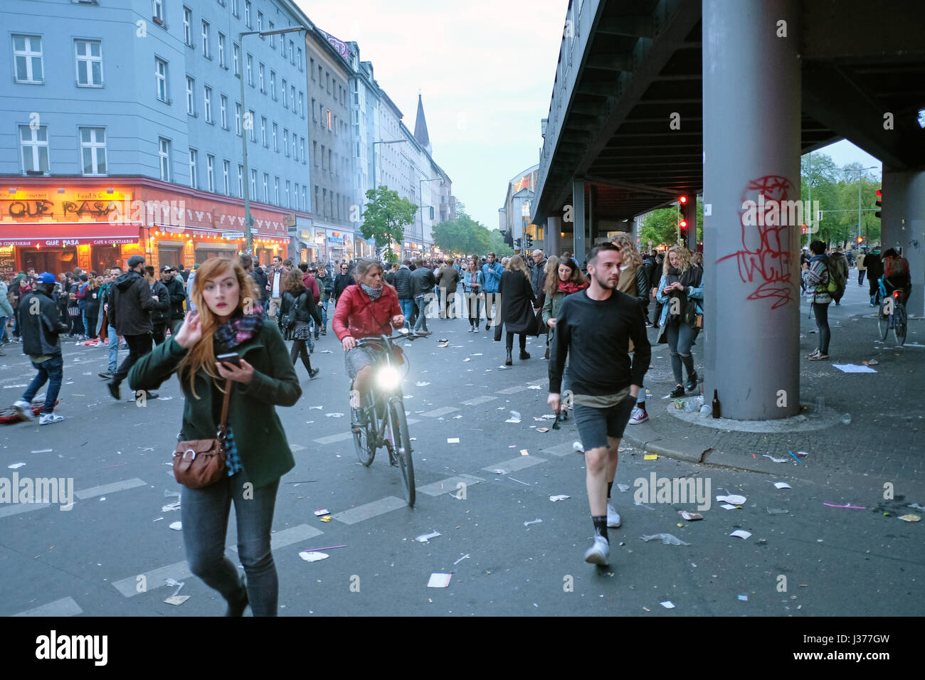
{"type": "MultiPolygon", "coordinates": [[[[363,408],[366,425],[353,423],[351,426],[353,448],[360,463],[366,467],[373,463],[378,448],[386,448],[388,463],[399,468],[405,501],[408,501],[410,507],[414,506],[414,464],[408,420],[401,397],[401,380],[404,376],[398,366],[392,363],[394,353],[391,345],[398,340],[423,337],[410,333],[407,328],[401,328],[397,335],[361,338],[356,343],[357,347],[369,347],[380,356],[374,365],[373,388],[366,395],[367,405],[363,408]]],[[[351,400],[354,396],[351,382],[351,400]]]]}

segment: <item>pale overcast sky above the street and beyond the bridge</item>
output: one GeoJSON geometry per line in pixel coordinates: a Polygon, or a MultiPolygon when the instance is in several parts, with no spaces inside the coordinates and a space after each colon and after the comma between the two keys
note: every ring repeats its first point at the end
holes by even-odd
{"type": "MultiPolygon", "coordinates": [[[[359,43],[412,131],[420,90],[434,160],[469,214],[498,227],[507,182],[539,159],[567,0],[296,1],[320,29],[359,43]]],[[[850,142],[822,152],[839,167],[880,165],[850,142]]]]}

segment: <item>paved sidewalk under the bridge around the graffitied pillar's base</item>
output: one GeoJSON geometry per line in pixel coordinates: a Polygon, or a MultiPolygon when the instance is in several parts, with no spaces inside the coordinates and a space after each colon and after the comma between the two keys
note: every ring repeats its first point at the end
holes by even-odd
{"type": "MultiPolygon", "coordinates": [[[[646,375],[649,420],[627,426],[625,439],[671,458],[774,473],[780,473],[783,464],[772,463],[763,457],[765,453],[789,459],[787,451],[807,451],[804,465],[788,466],[790,474],[874,476],[893,482],[897,494],[903,492],[900,483],[925,485],[925,321],[910,320],[906,346],[894,349],[892,336],[875,342],[880,338],[873,312],[866,282],[861,289],[857,278],[852,285],[849,276],[841,306],[829,307],[832,359],[810,362],[805,357],[816,348],[816,323],[808,318],[808,304],[800,302],[800,402],[814,404],[821,396],[827,410],[839,416],[850,414],[850,425],[839,417],[833,427],[808,432],[755,433],[687,423],[669,413],[672,400],[663,398],[674,380],[667,345],[654,344],[658,329],[651,328],[652,365],[646,375]],[[872,366],[876,374],[848,374],[833,367],[870,359],[878,362],[872,366]]],[[[706,341],[701,335],[694,347],[701,376],[706,341]]]]}

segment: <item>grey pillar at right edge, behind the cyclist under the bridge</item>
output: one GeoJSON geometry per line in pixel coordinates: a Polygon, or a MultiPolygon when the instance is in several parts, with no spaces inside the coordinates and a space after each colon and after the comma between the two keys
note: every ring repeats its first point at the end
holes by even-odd
{"type": "Polygon", "coordinates": [[[906,311],[920,318],[925,314],[925,171],[884,167],[882,177],[881,253],[902,248],[912,278],[906,311]]]}

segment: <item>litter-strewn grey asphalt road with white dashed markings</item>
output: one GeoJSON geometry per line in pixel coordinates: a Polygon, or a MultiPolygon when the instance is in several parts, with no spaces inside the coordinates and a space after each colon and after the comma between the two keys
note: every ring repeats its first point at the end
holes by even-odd
{"type": "MultiPolygon", "coordinates": [[[[550,425],[535,420],[548,413],[541,341],[529,344],[534,358],[505,369],[502,344],[484,330],[468,333],[464,320],[429,325],[435,331],[429,339],[405,348],[418,487],[413,509],[401,502],[398,470],[382,451],[369,468],[357,462],[348,435],[348,382],[332,333],[313,355],[321,375],[308,380],[300,366],[302,400],[277,409],[297,463],[282,480],[274,519],[281,615],[922,614],[923,525],[898,515],[921,515],[906,506],[925,499],[900,498],[897,489],[896,499],[884,501],[873,479],[853,478],[850,486],[836,477],[798,480],[788,476],[787,464],[770,476],[644,460],[642,451],[625,447],[616,481],[630,488],[613,490],[623,527],[611,529],[611,567],[585,563],[593,530],[584,457],[572,449],[573,421],[536,431],[550,425]],[[437,347],[441,338],[449,348],[437,347]],[[512,410],[520,423],[505,422],[512,410]],[[459,443],[448,443],[455,438],[459,443]],[[696,503],[635,504],[635,480],[652,473],[709,483],[704,520],[688,523],[677,513],[696,503]],[[776,481],[793,488],[775,488],[776,481]],[[746,501],[723,510],[715,496],[725,493],[746,501]],[[570,498],[550,501],[554,495],[570,498]],[[321,522],[314,516],[319,509],[334,519],[321,522]],[[730,537],[736,529],[751,536],[730,537]],[[433,531],[440,536],[415,540],[433,531]],[[690,545],[639,538],[659,533],[690,545]],[[346,547],[327,550],[321,562],[299,556],[330,546],[346,547]],[[427,587],[435,573],[451,575],[449,587],[427,587]],[[661,604],[669,601],[674,609],[661,604]]],[[[33,373],[17,352],[19,345],[7,345],[0,358],[9,403],[33,373]]],[[[2,430],[0,476],[73,477],[79,493],[67,512],[0,503],[0,615],[220,614],[224,601],[185,568],[180,533],[169,526],[179,512],[162,511],[177,500],[166,494],[179,492],[168,466],[179,386],[167,383],[161,398],[144,407],[115,402],[96,377],[105,353],[66,346],[58,407],[65,422],[2,430]],[[9,469],[18,463],[25,465],[9,469]],[[177,589],[165,585],[167,578],[184,583],[179,594],[189,599],[167,604],[177,589]]],[[[233,521],[227,545],[236,562],[233,521]]]]}

